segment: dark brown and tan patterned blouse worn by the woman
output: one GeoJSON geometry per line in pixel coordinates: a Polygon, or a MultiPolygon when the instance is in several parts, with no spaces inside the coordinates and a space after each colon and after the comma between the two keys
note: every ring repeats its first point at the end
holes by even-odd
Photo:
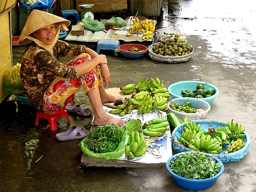
{"type": "Polygon", "coordinates": [[[44,94],[55,78],[79,77],[74,67],[61,63],[58,61],[59,57],[75,57],[85,52],[86,46],[57,40],[51,54],[32,42],[22,60],[20,79],[29,101],[36,110],[44,111],[44,94]]]}

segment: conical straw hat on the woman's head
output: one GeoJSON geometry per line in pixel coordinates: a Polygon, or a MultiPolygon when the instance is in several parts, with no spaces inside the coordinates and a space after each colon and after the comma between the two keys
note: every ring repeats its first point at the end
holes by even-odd
{"type": "MultiPolygon", "coordinates": [[[[56,24],[60,22],[63,22],[67,27],[70,25],[70,21],[65,18],[56,16],[45,11],[39,11],[37,9],[34,9],[29,15],[29,18],[22,30],[22,34],[20,34],[18,44],[20,41],[24,40],[28,35],[37,31],[38,29],[41,29],[50,24],[56,24]]],[[[60,28],[60,30],[62,30],[62,27],[60,28]]]]}

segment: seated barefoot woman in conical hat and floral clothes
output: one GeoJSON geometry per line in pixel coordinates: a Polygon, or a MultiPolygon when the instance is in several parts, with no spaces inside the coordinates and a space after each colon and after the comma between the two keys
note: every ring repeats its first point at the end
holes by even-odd
{"type": "Polygon", "coordinates": [[[125,121],[103,110],[102,103],[119,99],[107,94],[102,85],[104,82],[108,88],[110,81],[106,56],[86,46],[58,40],[60,30],[67,30],[69,25],[70,21],[62,17],[39,10],[31,12],[18,40],[18,43],[25,38],[33,41],[20,68],[20,79],[29,101],[40,112],[58,112],[82,87],[92,104],[95,125],[124,124],[125,121]],[[60,56],[75,58],[61,63],[60,56]]]}

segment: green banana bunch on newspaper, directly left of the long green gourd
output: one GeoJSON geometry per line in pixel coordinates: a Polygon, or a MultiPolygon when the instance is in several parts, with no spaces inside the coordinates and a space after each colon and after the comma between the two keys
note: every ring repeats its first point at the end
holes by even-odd
{"type": "Polygon", "coordinates": [[[144,135],[150,137],[161,137],[169,130],[168,121],[161,118],[154,118],[142,125],[144,135]]]}

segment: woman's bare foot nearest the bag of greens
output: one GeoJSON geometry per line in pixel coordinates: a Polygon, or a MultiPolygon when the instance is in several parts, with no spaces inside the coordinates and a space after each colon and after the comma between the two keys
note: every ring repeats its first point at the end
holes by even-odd
{"type": "Polygon", "coordinates": [[[104,115],[101,115],[101,116],[98,116],[98,117],[95,114],[94,115],[94,120],[93,120],[93,123],[97,126],[104,126],[104,125],[107,125],[107,124],[115,124],[117,126],[121,126],[125,122],[126,121],[121,120],[121,119],[117,119],[117,118],[112,117],[108,114],[104,114],[104,115]]]}

